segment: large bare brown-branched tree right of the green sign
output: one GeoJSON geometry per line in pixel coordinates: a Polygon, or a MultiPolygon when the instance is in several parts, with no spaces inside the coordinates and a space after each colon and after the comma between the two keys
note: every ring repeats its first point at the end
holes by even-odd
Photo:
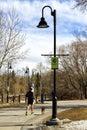
{"type": "Polygon", "coordinates": [[[66,72],[66,82],[80,90],[81,95],[87,97],[87,41],[77,41],[63,46],[63,52],[68,52],[69,57],[61,58],[61,65],[66,72]]]}

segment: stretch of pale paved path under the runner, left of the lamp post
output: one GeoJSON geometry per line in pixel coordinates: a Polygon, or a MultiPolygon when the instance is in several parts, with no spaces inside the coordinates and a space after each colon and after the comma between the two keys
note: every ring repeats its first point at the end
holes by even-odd
{"type": "Polygon", "coordinates": [[[36,104],[34,114],[28,111],[28,115],[25,115],[26,108],[14,107],[14,108],[1,108],[0,109],[0,130],[23,130],[25,127],[33,128],[35,124],[47,117],[47,114],[51,114],[51,102],[44,104],[36,104]],[[46,107],[45,114],[41,113],[41,107],[46,107]],[[49,111],[49,113],[48,113],[49,111]],[[34,124],[34,126],[32,126],[34,124]]]}

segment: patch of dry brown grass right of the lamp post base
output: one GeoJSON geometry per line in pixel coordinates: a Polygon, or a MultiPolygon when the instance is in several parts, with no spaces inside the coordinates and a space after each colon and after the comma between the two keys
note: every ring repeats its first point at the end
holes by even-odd
{"type": "Polygon", "coordinates": [[[59,119],[68,118],[70,120],[87,120],[87,108],[74,108],[58,113],[59,119]]]}

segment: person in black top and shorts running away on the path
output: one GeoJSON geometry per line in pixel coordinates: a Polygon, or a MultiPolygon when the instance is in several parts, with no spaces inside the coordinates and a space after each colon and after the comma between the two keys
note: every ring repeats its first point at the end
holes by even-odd
{"type": "Polygon", "coordinates": [[[34,109],[34,95],[32,92],[32,88],[29,88],[29,91],[26,93],[26,101],[27,101],[27,106],[26,106],[26,115],[28,109],[31,110],[31,114],[33,114],[33,109],[34,109]]]}

